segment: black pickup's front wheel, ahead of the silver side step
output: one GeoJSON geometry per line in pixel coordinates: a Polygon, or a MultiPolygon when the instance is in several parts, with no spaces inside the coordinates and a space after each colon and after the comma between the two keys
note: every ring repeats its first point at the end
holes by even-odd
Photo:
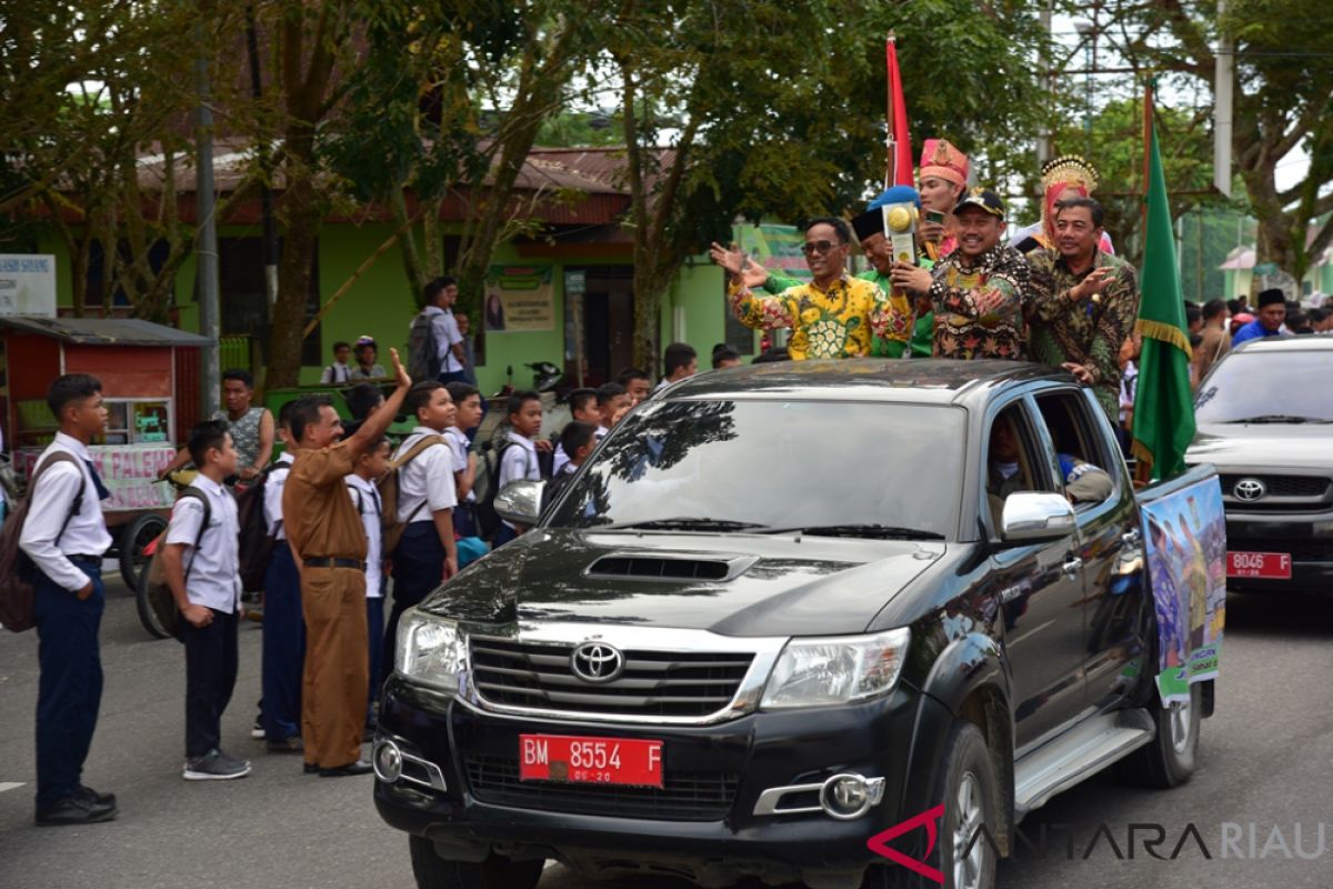
{"type": "MultiPolygon", "coordinates": [[[[996,853],[992,838],[1000,836],[1000,781],[990,760],[986,740],[974,724],[958,721],[945,744],[940,777],[932,800],[944,802],[936,852],[926,861],[944,873],[944,889],[994,889],[996,853]],[[969,802],[962,805],[964,786],[969,788],[969,802]],[[964,812],[970,810],[970,816],[964,812]],[[962,822],[966,817],[966,824],[962,822]],[[980,830],[985,825],[985,832],[980,830]],[[968,848],[970,845],[970,849],[968,848]],[[968,852],[972,866],[956,868],[958,856],[968,852]],[[964,877],[960,881],[960,876],[964,877]],[[970,878],[968,878],[970,877],[970,878]]],[[[933,880],[909,873],[901,866],[872,866],[861,884],[862,889],[934,889],[933,880]]]]}

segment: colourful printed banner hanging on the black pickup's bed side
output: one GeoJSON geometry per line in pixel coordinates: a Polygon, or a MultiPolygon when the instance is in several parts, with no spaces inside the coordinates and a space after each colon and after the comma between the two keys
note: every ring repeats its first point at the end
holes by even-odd
{"type": "Polygon", "coordinates": [[[1157,690],[1189,700],[1217,676],[1226,620],[1226,520],[1216,477],[1144,504],[1144,541],[1157,609],[1157,690]]]}

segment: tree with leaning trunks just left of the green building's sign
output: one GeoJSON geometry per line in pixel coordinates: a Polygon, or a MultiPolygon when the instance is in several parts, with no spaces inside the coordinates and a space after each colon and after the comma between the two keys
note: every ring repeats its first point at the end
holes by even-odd
{"type": "Polygon", "coordinates": [[[588,12],[567,0],[492,4],[368,3],[367,56],[351,81],[345,125],[327,145],[333,169],[364,200],[388,205],[403,237],[408,289],[443,275],[440,217],[461,199],[456,263],[460,308],[480,300],[499,244],[532,231],[539,195],[516,203],[516,181],[543,124],[584,60],[588,12]],[[408,197],[416,203],[409,208],[408,197]]]}

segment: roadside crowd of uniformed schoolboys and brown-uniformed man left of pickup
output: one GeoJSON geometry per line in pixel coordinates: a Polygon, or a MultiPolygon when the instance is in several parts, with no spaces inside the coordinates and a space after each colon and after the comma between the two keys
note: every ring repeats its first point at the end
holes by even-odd
{"type": "MultiPolygon", "coordinates": [[[[440,289],[432,283],[427,296],[440,289]]],[[[541,397],[515,393],[505,405],[504,433],[488,449],[491,443],[475,443],[481,393],[447,361],[445,352],[457,356],[457,343],[449,331],[432,331],[428,343],[440,351],[439,372],[413,381],[391,349],[388,396],[381,384],[357,383],[336,368],[327,375],[351,384],[343,389],[352,415],[347,423],[328,395],[289,401],[273,417],[253,404],[249,375],[227,371],[225,409],[197,424],[163,470],[176,478],[176,470],[195,469],[160,541],[184,642],[183,778],[251,772],[247,757],[223,749],[221,717],[239,673],[241,578],[256,552],[265,561],[261,700],[252,737],[269,753],[301,754],[307,773],[365,774],[372,766],[361,760],[361,744],[373,729],[377,690],[393,669],[403,612],[527,530],[496,516],[488,500],[496,490],[547,478],[557,492],[651,393],[649,375],[637,369],[596,389],[576,389],[569,395],[572,420],[553,439],[541,436],[541,397]],[[385,433],[400,413],[416,425],[393,448],[385,433]],[[281,453],[271,461],[277,444],[281,453]],[[488,493],[479,496],[488,473],[488,493]],[[247,498],[255,509],[245,508],[247,498]],[[257,516],[268,545],[243,553],[239,541],[249,514],[257,516]]],[[[359,368],[365,368],[375,355],[367,343],[359,347],[359,368]]],[[[714,356],[714,364],[720,360],[730,359],[714,356]]],[[[689,345],[668,347],[664,383],[696,369],[689,345]]],[[[373,364],[367,373],[384,376],[373,364]]],[[[36,821],[87,824],[117,814],[115,794],[81,781],[101,697],[101,558],[111,546],[99,506],[108,494],[88,445],[103,435],[107,409],[101,384],[87,375],[59,377],[48,405],[60,432],[37,461],[29,517],[19,533],[36,568],[36,821]]]]}

